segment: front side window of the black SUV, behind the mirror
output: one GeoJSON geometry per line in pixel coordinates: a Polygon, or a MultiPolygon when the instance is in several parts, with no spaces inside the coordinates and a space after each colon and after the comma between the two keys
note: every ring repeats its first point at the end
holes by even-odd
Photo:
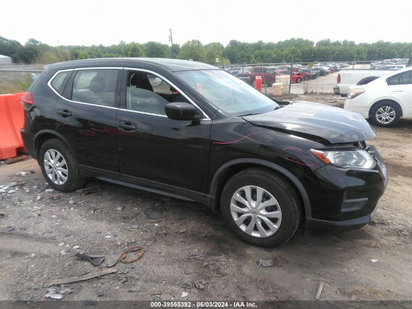
{"type": "Polygon", "coordinates": [[[187,99],[160,77],[139,71],[129,72],[126,85],[126,109],[143,113],[166,115],[167,103],[187,99]]]}

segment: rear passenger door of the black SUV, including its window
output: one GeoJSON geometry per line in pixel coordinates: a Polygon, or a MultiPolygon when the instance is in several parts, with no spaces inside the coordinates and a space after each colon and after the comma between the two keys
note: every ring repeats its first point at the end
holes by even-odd
{"type": "Polygon", "coordinates": [[[120,79],[121,68],[75,69],[49,123],[68,141],[81,169],[115,178],[120,79]]]}

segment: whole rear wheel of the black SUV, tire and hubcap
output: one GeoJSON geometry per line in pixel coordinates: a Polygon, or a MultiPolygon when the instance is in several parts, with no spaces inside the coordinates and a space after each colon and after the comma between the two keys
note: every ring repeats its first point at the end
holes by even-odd
{"type": "Polygon", "coordinates": [[[71,192],[85,183],[73,153],[58,139],[48,140],[41,145],[39,165],[47,183],[55,190],[71,192]]]}

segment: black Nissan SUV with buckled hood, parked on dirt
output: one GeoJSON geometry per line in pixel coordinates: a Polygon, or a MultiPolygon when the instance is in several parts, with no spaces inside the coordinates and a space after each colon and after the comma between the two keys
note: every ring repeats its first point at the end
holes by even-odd
{"type": "Polygon", "coordinates": [[[204,63],[55,63],[22,104],[24,145],[56,190],[96,177],[196,201],[257,246],[286,242],[300,223],[362,227],[387,183],[361,115],[278,102],[204,63]]]}

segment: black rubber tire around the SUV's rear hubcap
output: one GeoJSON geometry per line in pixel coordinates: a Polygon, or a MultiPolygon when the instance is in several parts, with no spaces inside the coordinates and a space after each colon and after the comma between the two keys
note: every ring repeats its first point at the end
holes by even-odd
{"type": "Polygon", "coordinates": [[[41,145],[39,152],[39,165],[41,168],[41,172],[43,173],[43,176],[46,179],[47,183],[55,190],[59,190],[61,192],[71,192],[83,186],[86,181],[86,178],[80,175],[80,171],[78,169],[78,165],[72,151],[66,144],[64,144],[59,139],[47,140],[41,145]],[[49,149],[55,149],[59,151],[61,156],[66,161],[68,175],[66,182],[62,185],[55,184],[47,176],[47,173],[45,171],[43,158],[44,154],[49,149]]]}

